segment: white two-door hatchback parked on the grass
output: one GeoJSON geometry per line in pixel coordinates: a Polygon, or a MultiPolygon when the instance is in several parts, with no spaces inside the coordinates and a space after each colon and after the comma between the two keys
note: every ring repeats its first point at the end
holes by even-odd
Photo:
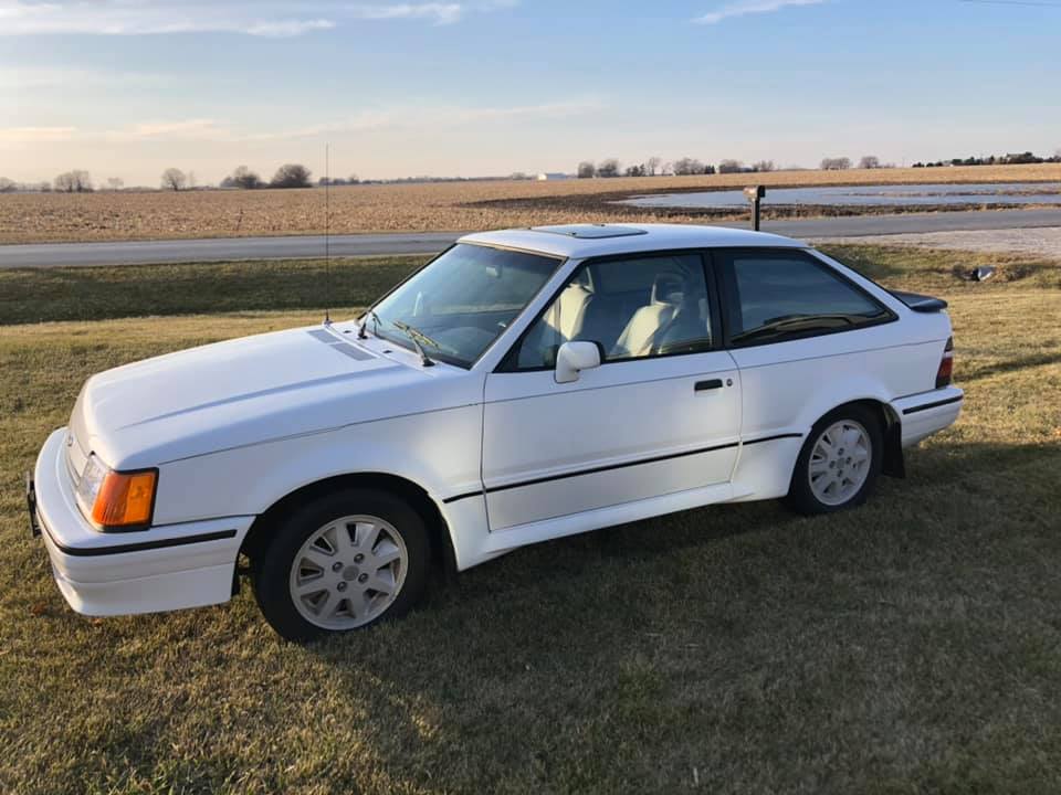
{"type": "Polygon", "coordinates": [[[862,502],[950,425],[945,303],[704,226],[462,237],[357,320],[91,378],[28,479],[86,615],[225,602],[308,639],[429,568],[713,502],[862,502]]]}

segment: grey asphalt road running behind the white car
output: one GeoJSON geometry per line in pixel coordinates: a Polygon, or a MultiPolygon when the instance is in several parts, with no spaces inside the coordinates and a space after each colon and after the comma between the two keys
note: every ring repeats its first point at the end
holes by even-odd
{"type": "MultiPolygon", "coordinates": [[[[735,226],[736,222],[722,225],[735,226]]],[[[1061,226],[1059,210],[958,211],[904,215],[859,215],[808,221],[767,221],[765,232],[813,240],[863,235],[968,230],[1061,226]]],[[[333,235],[333,256],[433,254],[452,243],[455,232],[333,235]]],[[[34,243],[0,245],[0,268],[134,265],[232,259],[286,259],[324,256],[324,237],[223,237],[118,243],[34,243]]]]}

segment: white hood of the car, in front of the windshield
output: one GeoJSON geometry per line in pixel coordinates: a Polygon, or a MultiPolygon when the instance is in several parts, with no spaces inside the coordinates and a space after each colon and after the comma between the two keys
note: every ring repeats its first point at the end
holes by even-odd
{"type": "MultiPolygon", "coordinates": [[[[343,331],[346,333],[343,333],[343,331]]],[[[93,375],[71,417],[117,469],[477,402],[470,373],[315,327],[229,340],[93,375]]],[[[481,398],[481,391],[477,391],[481,398]]]]}

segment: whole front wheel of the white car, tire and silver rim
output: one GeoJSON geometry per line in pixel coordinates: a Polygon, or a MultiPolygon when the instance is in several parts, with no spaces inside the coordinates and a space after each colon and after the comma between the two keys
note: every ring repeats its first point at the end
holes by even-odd
{"type": "Polygon", "coordinates": [[[382,491],[349,489],[288,513],[253,561],[254,597],[287,640],[364,629],[423,594],[431,541],[420,513],[382,491]]]}

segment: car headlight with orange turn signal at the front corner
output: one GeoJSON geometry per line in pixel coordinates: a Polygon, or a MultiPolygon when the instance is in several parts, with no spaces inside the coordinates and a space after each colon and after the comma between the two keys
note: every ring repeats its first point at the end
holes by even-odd
{"type": "Polygon", "coordinates": [[[77,484],[77,499],[101,530],[130,529],[151,523],[157,485],[157,469],[114,471],[91,455],[77,484]]]}

